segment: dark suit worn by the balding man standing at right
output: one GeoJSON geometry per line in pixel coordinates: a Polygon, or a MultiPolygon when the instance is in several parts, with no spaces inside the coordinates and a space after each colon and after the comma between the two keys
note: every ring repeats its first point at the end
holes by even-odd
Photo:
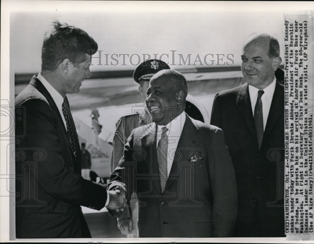
{"type": "Polygon", "coordinates": [[[236,172],[239,207],[235,236],[247,236],[256,204],[262,236],[284,236],[283,85],[276,82],[260,151],[247,83],[217,93],[211,124],[224,131],[236,172]]]}

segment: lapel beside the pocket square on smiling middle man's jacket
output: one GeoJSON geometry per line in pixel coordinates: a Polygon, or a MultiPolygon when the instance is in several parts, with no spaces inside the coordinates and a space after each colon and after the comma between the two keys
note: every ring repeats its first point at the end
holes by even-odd
{"type": "Polygon", "coordinates": [[[172,162],[169,177],[165,186],[165,191],[171,186],[171,184],[179,178],[179,166],[180,163],[191,162],[191,152],[198,143],[197,128],[192,123],[190,117],[186,114],[186,120],[182,129],[181,137],[176,148],[174,160],[172,162]]]}

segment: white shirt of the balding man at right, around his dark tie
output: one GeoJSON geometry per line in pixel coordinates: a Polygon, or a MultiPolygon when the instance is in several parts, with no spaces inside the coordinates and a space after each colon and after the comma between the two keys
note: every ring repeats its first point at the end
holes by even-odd
{"type": "MultiPolygon", "coordinates": [[[[276,87],[276,78],[273,80],[273,82],[268,87],[263,89],[264,94],[263,94],[261,99],[262,99],[262,104],[263,104],[264,131],[265,131],[266,123],[267,123],[270,105],[271,105],[272,99],[273,99],[273,94],[275,92],[275,87],[276,87]]],[[[254,116],[255,104],[257,102],[258,91],[259,91],[259,89],[249,85],[249,94],[250,94],[250,99],[251,99],[253,116],[254,116]]]]}

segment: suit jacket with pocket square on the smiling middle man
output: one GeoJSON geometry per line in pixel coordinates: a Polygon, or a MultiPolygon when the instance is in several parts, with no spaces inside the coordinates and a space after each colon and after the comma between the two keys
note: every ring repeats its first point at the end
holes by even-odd
{"type": "Polygon", "coordinates": [[[156,129],[152,123],[132,131],[108,184],[111,189],[125,183],[128,197],[137,192],[139,237],[230,236],[237,192],[223,132],[186,117],[162,194],[156,129]]]}

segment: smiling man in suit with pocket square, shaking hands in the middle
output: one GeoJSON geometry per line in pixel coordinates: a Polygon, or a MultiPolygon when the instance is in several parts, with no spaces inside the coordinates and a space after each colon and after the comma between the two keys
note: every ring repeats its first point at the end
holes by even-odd
{"type": "Polygon", "coordinates": [[[222,130],[185,114],[187,81],[162,70],[149,82],[153,123],[132,131],[108,189],[138,196],[139,237],[231,236],[234,169],[222,130]]]}

